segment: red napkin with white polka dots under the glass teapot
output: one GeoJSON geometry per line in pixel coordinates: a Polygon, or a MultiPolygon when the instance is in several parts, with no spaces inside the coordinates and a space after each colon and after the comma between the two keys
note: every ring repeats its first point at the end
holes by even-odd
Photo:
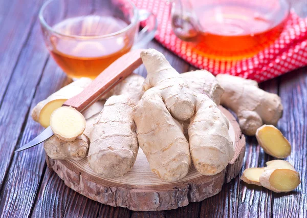
{"type": "Polygon", "coordinates": [[[231,74],[265,81],[307,65],[307,18],[291,13],[280,37],[269,48],[251,58],[239,61],[220,61],[192,51],[193,45],[182,41],[172,32],[170,6],[166,0],[133,0],[140,9],[157,16],[155,38],[167,49],[199,69],[216,74],[231,74]]]}

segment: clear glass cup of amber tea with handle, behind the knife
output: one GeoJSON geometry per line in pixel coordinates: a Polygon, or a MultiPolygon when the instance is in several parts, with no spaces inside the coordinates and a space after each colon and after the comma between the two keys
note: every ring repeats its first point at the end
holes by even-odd
{"type": "Polygon", "coordinates": [[[49,0],[39,20],[52,57],[74,79],[97,77],[131,48],[146,45],[157,30],[156,17],[129,0],[49,0]]]}

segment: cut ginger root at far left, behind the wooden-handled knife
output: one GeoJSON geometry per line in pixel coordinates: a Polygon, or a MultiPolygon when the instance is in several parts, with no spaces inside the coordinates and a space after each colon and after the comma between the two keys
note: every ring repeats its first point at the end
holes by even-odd
{"type": "Polygon", "coordinates": [[[50,95],[47,99],[40,101],[32,110],[31,116],[34,121],[47,128],[50,125],[52,112],[62,106],[69,98],[74,97],[92,82],[89,78],[81,78],[74,81],[57,92],[50,95]]]}

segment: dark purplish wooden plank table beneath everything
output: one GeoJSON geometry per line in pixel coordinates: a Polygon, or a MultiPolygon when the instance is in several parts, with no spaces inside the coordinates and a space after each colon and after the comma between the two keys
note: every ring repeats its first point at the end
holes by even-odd
{"type": "MultiPolygon", "coordinates": [[[[302,183],[291,193],[273,193],[233,179],[223,190],[176,210],[136,212],[83,197],[65,186],[45,162],[42,146],[14,154],[43,128],[29,113],[40,100],[71,82],[50,58],[37,20],[41,0],[0,1],[0,216],[1,217],[307,217],[307,68],[260,84],[278,93],[284,114],[278,128],[293,146],[290,161],[302,183]]],[[[179,72],[193,68],[157,42],[179,72]]],[[[137,71],[144,75],[144,67],[137,71]]],[[[247,137],[243,170],[272,157],[247,137]]]]}

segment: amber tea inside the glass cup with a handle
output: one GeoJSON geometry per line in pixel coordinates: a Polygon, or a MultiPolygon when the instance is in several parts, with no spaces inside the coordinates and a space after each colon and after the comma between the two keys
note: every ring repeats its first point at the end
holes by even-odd
{"type": "MultiPolygon", "coordinates": [[[[97,77],[113,61],[127,53],[133,41],[121,34],[109,38],[86,38],[115,33],[128,25],[120,19],[108,16],[82,16],[61,21],[53,28],[65,35],[51,36],[51,55],[65,73],[71,78],[97,77]]],[[[130,37],[131,38],[131,37],[130,37]]]]}

